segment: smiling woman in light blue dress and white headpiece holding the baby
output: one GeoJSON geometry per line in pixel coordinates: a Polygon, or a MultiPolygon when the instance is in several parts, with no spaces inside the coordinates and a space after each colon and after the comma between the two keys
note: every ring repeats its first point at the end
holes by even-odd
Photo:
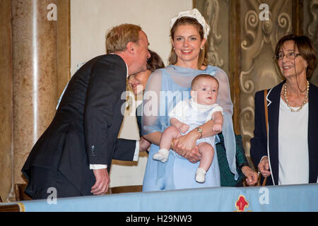
{"type": "MultiPolygon", "coordinates": [[[[173,142],[167,162],[153,160],[158,152],[161,133],[170,126],[168,113],[180,100],[189,99],[192,79],[201,74],[215,76],[219,82],[218,105],[223,107],[223,136],[231,172],[238,177],[235,165],[235,135],[232,126],[232,101],[228,76],[218,67],[208,65],[206,37],[209,26],[196,8],[183,11],[172,18],[170,35],[172,50],[165,69],[151,74],[143,96],[143,136],[152,143],[149,151],[143,191],[169,189],[192,189],[220,186],[220,170],[217,153],[206,172],[206,182],[196,183],[196,168],[199,152],[196,140],[199,137],[216,135],[212,131],[214,121],[193,129],[173,142]],[[202,130],[201,130],[202,129],[202,130]]],[[[217,139],[218,141],[218,139],[217,139]]]]}

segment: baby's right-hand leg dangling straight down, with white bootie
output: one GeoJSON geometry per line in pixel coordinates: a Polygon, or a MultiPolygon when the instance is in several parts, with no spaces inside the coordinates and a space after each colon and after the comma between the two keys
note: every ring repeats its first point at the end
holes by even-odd
{"type": "Polygon", "coordinates": [[[204,183],[206,181],[206,172],[211,167],[214,149],[208,143],[199,143],[199,153],[202,155],[199,168],[196,169],[196,182],[204,183]]]}

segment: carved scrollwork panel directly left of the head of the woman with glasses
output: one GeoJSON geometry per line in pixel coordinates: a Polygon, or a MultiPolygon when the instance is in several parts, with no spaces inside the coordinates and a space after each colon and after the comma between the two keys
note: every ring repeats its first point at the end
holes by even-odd
{"type": "Polygon", "coordinates": [[[292,11],[288,1],[265,2],[269,5],[269,20],[260,20],[260,1],[242,4],[241,71],[240,71],[240,129],[245,152],[249,156],[250,139],[254,136],[254,94],[276,85],[278,77],[271,58],[279,38],[292,32],[292,11]]]}

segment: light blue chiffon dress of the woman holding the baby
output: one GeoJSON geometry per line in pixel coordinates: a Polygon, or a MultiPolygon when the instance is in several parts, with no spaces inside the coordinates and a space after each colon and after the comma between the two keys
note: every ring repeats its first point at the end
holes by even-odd
{"type": "MultiPolygon", "coordinates": [[[[189,99],[192,79],[201,74],[215,76],[219,82],[218,105],[223,107],[223,136],[230,169],[237,178],[235,165],[235,136],[232,126],[232,102],[230,85],[226,73],[214,66],[205,70],[189,69],[179,66],[167,66],[151,74],[143,95],[142,134],[162,133],[170,126],[169,112],[177,102],[189,99]]],[[[216,143],[218,136],[216,136],[216,143]]],[[[215,148],[215,147],[214,147],[215,148]]],[[[189,160],[170,150],[167,162],[153,160],[159,150],[158,145],[151,145],[143,178],[143,191],[160,191],[170,189],[192,189],[220,186],[220,169],[215,151],[213,162],[206,172],[206,182],[195,181],[195,172],[199,162],[189,160]]],[[[216,149],[215,149],[216,150],[216,149]]]]}

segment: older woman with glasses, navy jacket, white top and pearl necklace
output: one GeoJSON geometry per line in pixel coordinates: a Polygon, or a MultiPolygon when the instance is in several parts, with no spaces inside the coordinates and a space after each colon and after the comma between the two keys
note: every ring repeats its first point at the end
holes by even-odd
{"type": "Polygon", "coordinates": [[[266,184],[317,182],[318,88],[308,79],[317,64],[310,39],[287,35],[276,45],[283,82],[268,90],[268,130],[264,90],[255,94],[255,130],[251,157],[266,184]]]}

